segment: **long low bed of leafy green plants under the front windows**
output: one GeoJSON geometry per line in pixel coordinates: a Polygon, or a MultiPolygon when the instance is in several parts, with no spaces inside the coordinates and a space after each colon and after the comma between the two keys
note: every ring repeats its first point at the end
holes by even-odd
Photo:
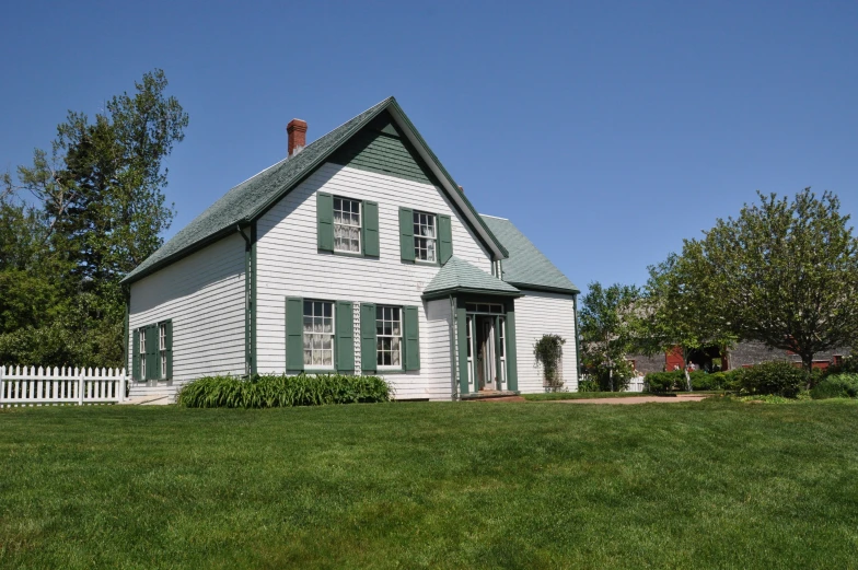
{"type": "Polygon", "coordinates": [[[252,380],[202,377],[185,385],[177,402],[187,408],[278,408],[390,399],[391,386],[379,376],[299,374],[263,375],[252,380]]]}

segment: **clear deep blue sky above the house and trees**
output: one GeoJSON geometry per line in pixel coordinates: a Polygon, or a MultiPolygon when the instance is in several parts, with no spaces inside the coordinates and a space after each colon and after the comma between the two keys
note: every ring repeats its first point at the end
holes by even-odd
{"type": "Polygon", "coordinates": [[[394,95],[484,213],[579,287],[646,267],[755,190],[858,212],[858,2],[12,2],[0,168],[163,68],[190,115],[167,236],[394,95]]]}

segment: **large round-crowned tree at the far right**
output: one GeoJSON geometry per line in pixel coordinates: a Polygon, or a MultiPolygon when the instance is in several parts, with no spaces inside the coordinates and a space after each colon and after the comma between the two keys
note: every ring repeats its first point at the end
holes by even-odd
{"type": "Polygon", "coordinates": [[[758,194],[737,219],[687,240],[671,269],[683,321],[799,354],[858,339],[858,239],[838,198],[758,194]]]}

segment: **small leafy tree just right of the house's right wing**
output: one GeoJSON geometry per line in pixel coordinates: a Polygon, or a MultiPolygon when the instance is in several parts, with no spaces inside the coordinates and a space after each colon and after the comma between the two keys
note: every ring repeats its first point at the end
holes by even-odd
{"type": "Polygon", "coordinates": [[[631,351],[638,317],[636,303],[640,291],[618,283],[603,288],[589,286],[581,300],[579,326],[584,365],[596,372],[600,384],[611,392],[621,389],[631,375],[625,356],[631,351]],[[606,381],[606,382],[605,382],[606,381]]]}

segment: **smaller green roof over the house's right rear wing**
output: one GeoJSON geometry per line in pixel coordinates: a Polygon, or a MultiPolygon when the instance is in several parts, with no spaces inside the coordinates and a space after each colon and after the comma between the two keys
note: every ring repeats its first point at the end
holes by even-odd
{"type": "Polygon", "coordinates": [[[520,289],[581,292],[511,221],[485,214],[483,220],[509,252],[509,258],[501,261],[505,281],[520,289]]]}

